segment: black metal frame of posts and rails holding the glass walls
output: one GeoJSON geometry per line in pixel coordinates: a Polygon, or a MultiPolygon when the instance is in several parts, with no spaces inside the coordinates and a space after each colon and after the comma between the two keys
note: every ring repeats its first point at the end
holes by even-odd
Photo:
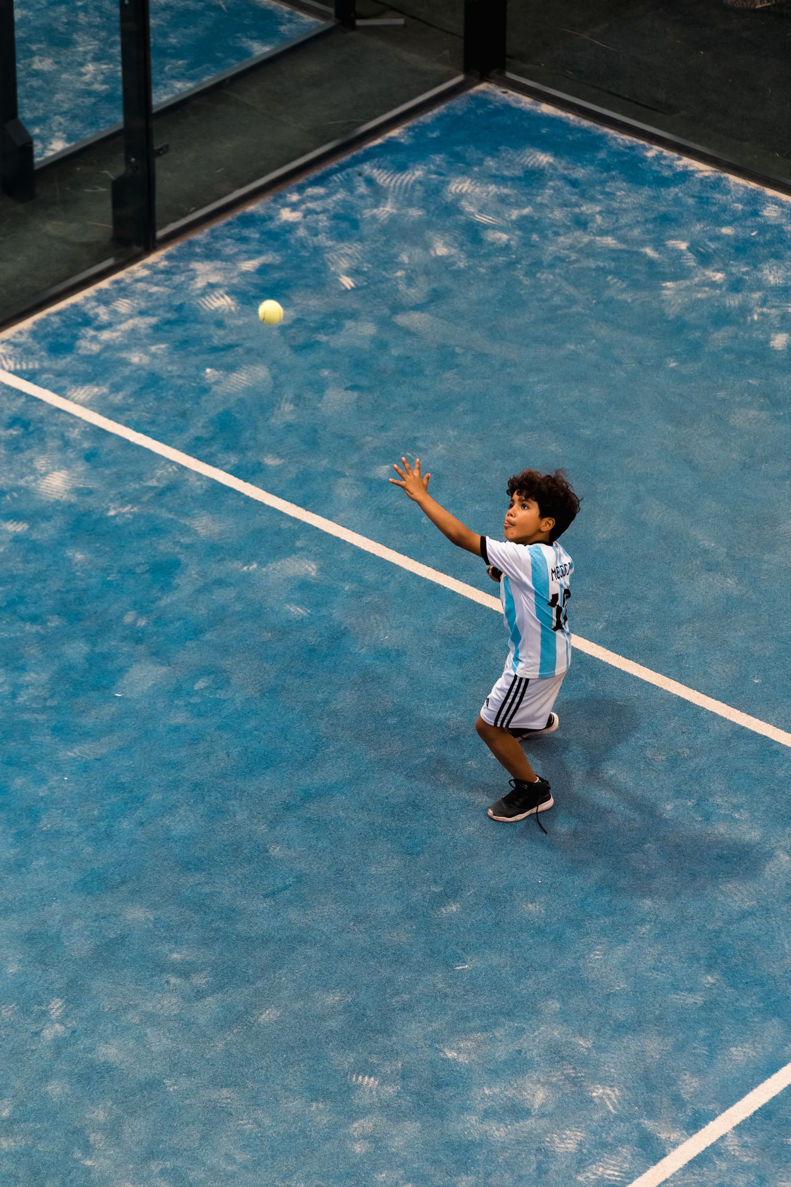
{"type": "MultiPolygon", "coordinates": [[[[157,108],[151,101],[151,46],[148,32],[148,0],[119,0],[121,18],[121,65],[123,88],[123,125],[109,128],[63,153],[39,163],[46,167],[56,159],[78,152],[87,144],[116,135],[123,129],[125,171],[113,182],[113,231],[119,250],[111,259],[89,268],[79,275],[39,294],[36,301],[20,310],[6,325],[13,324],[71,292],[95,284],[126,267],[132,259],[191,234],[198,227],[225,216],[230,210],[257,199],[263,193],[288,184],[294,178],[332,159],[340,158],[359,145],[375,139],[388,128],[413,119],[430,107],[447,102],[454,95],[490,80],[504,89],[550,103],[562,110],[573,112],[587,120],[604,125],[629,135],[661,145],[663,148],[712,165],[723,172],[757,182],[782,193],[791,193],[791,182],[751,170],[738,161],[691,144],[658,128],[617,115],[585,100],[553,90],[541,83],[506,70],[506,9],[508,0],[464,0],[464,74],[434,90],[419,95],[409,103],[388,112],[370,123],[320,148],[300,157],[282,169],[260,178],[257,182],[227,195],[219,202],[194,211],[186,218],[165,227],[159,234],[155,224],[155,155],[153,142],[153,115],[166,107],[189,102],[196,94],[223,85],[240,72],[255,69],[264,58],[279,57],[292,51],[301,42],[332,28],[357,27],[356,0],[331,0],[332,7],[319,0],[286,0],[293,7],[305,11],[319,9],[327,21],[326,27],[294,38],[259,58],[236,66],[206,83],[173,96],[157,108]]],[[[394,4],[397,11],[397,0],[394,4]]],[[[362,23],[361,23],[362,24],[362,23]]],[[[33,196],[34,164],[33,144],[17,109],[17,68],[13,37],[13,0],[0,0],[0,180],[4,192],[18,199],[33,196]]],[[[165,146],[166,147],[166,146],[165,146]]],[[[160,150],[160,152],[164,150],[160,150]]]]}

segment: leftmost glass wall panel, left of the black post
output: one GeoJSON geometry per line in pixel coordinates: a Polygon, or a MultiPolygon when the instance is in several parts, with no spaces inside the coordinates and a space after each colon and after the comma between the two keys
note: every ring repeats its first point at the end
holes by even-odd
{"type": "Polygon", "coordinates": [[[79,0],[0,0],[0,323],[74,277],[132,254],[113,243],[110,179],[123,169],[120,133],[69,152],[120,118],[108,100],[108,80],[120,78],[117,2],[104,0],[103,9],[115,19],[115,37],[113,20],[98,21],[79,0]],[[25,133],[36,161],[28,192],[19,184],[25,133]]]}

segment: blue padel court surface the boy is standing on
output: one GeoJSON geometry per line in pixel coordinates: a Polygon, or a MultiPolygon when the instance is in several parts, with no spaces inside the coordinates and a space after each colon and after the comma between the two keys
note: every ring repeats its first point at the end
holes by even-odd
{"type": "Polygon", "coordinates": [[[0,337],[5,1182],[655,1185],[789,1064],[790,230],[483,85],[0,337]],[[575,635],[777,736],[578,648],[495,824],[502,616],[75,406],[490,597],[393,463],[566,466],[575,635]]]}

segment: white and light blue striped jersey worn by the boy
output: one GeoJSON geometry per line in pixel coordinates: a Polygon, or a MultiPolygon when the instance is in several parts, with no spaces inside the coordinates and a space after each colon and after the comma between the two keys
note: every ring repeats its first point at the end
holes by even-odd
{"type": "Polygon", "coordinates": [[[484,560],[503,571],[509,630],[505,671],[529,679],[561,675],[572,662],[567,603],[574,563],[560,544],[510,544],[481,537],[484,560]]]}

